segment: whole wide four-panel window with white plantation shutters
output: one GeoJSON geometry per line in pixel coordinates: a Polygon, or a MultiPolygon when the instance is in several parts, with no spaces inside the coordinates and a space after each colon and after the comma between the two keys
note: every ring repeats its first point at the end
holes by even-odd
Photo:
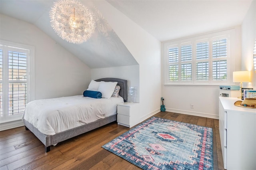
{"type": "Polygon", "coordinates": [[[229,39],[225,31],[164,43],[165,84],[230,83],[229,39]]]}

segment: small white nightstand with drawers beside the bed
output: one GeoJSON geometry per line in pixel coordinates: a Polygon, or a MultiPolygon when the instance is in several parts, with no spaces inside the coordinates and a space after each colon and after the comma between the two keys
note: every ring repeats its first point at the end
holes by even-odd
{"type": "Polygon", "coordinates": [[[117,124],[133,127],[140,123],[140,103],[120,103],[117,105],[117,124]]]}

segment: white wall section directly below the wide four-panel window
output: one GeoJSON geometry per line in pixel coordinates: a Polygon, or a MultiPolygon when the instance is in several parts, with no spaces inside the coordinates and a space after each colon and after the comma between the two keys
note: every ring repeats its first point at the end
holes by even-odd
{"type": "Polygon", "coordinates": [[[218,118],[218,86],[182,87],[163,85],[162,89],[166,111],[218,118]],[[194,109],[190,105],[194,105],[194,109]]]}

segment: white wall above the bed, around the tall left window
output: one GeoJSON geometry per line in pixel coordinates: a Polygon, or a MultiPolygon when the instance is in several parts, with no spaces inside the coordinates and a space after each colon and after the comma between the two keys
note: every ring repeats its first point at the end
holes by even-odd
{"type": "Polygon", "coordinates": [[[0,39],[35,47],[35,99],[81,95],[90,68],[36,26],[0,15],[0,39]]]}

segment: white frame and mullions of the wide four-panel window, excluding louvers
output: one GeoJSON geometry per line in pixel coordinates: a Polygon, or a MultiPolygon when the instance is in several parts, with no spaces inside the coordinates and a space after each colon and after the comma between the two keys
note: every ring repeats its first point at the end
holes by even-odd
{"type": "MultiPolygon", "coordinates": [[[[163,44],[163,57],[164,57],[164,85],[230,85],[234,84],[232,83],[232,71],[234,71],[234,61],[230,59],[230,53],[231,53],[231,47],[230,47],[230,40],[231,36],[234,35],[234,29],[220,31],[220,32],[214,32],[210,34],[204,34],[200,36],[194,36],[191,38],[184,38],[184,39],[178,39],[173,41],[164,42],[163,44]],[[216,40],[222,40],[227,39],[227,57],[223,58],[213,58],[212,57],[212,42],[216,40]],[[200,42],[208,42],[208,59],[202,59],[201,61],[208,61],[209,65],[209,80],[206,81],[198,81],[196,80],[196,62],[198,59],[196,59],[196,43],[200,42]],[[192,44],[192,81],[182,81],[181,80],[181,63],[178,63],[179,71],[178,71],[178,81],[169,81],[168,77],[168,50],[169,47],[178,47],[179,51],[179,61],[181,60],[181,46],[184,44],[188,45],[188,43],[192,44]],[[220,61],[220,60],[227,60],[227,79],[226,80],[214,80],[213,79],[213,69],[212,64],[214,61],[220,61]]],[[[201,62],[200,61],[200,62],[201,62]]]]}

